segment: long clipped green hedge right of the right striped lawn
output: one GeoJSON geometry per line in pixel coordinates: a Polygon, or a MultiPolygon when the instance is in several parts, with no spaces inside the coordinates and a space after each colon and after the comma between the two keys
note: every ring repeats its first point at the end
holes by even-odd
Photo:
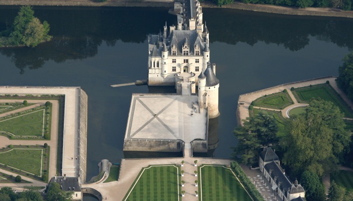
{"type": "Polygon", "coordinates": [[[245,189],[249,192],[250,196],[253,197],[254,201],[265,201],[264,197],[257,190],[253,182],[248,178],[242,167],[236,161],[230,163],[230,168],[236,173],[245,189]]]}

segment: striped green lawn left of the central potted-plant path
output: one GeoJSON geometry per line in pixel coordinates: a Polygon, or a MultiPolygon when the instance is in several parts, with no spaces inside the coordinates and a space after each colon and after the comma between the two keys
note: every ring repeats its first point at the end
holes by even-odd
{"type": "Polygon", "coordinates": [[[123,200],[181,200],[180,168],[175,165],[143,168],[123,200]]]}

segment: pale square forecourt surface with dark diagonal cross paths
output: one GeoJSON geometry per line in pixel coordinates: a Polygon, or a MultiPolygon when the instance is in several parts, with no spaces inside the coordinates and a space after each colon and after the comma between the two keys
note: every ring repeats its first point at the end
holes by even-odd
{"type": "Polygon", "coordinates": [[[197,101],[197,95],[133,94],[125,139],[206,139],[207,113],[192,109],[197,101]]]}

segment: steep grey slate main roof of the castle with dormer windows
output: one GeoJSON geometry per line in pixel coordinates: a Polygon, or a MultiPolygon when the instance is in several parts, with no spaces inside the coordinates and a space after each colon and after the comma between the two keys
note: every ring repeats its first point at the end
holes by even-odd
{"type": "MultiPolygon", "coordinates": [[[[199,45],[200,50],[204,49],[204,47],[205,47],[203,40],[200,38],[200,36],[196,30],[188,30],[188,31],[174,30],[170,34],[170,41],[168,44],[169,45],[169,53],[171,53],[172,45],[175,45],[175,47],[177,47],[177,55],[182,55],[183,45],[186,40],[190,46],[190,54],[189,55],[195,54],[194,48],[195,48],[196,44],[199,45]]],[[[202,55],[202,52],[200,52],[200,55],[202,55]]]]}

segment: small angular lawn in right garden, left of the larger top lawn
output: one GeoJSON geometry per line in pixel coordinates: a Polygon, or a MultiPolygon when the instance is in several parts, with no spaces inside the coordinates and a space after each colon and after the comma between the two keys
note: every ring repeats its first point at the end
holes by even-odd
{"type": "Polygon", "coordinates": [[[273,93],[257,98],[253,106],[281,110],[293,104],[288,92],[273,93]]]}

